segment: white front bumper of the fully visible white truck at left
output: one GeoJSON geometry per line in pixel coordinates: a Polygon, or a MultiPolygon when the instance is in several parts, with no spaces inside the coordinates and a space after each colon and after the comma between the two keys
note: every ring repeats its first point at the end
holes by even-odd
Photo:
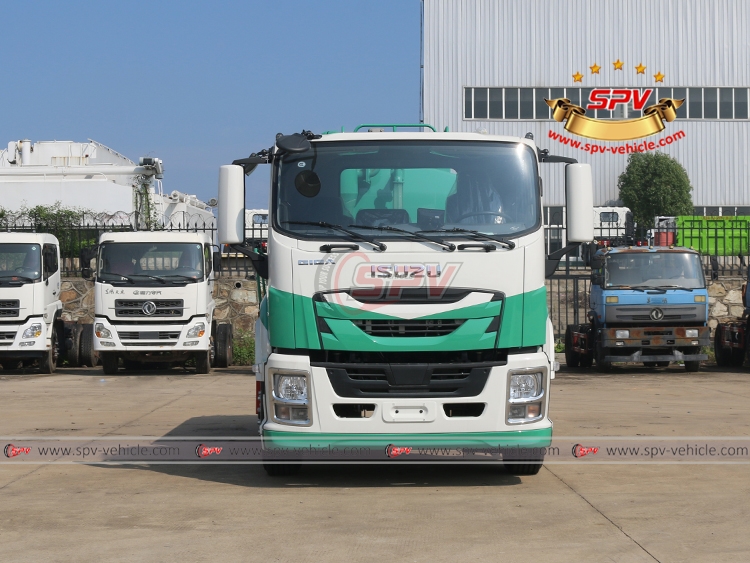
{"type": "Polygon", "coordinates": [[[94,326],[101,324],[111,333],[111,338],[94,336],[94,349],[99,352],[132,353],[186,353],[206,351],[211,346],[211,326],[205,317],[195,317],[187,324],[113,324],[101,317],[94,319],[94,326]],[[188,331],[203,323],[205,332],[201,337],[188,338],[188,331]],[[189,345],[188,345],[189,344],[189,345]]]}

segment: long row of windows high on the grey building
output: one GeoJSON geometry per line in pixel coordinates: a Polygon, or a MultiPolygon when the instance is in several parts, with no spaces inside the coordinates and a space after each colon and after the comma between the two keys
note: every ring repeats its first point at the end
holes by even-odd
{"type": "MultiPolygon", "coordinates": [[[[607,89],[607,87],[604,87],[607,89]]],[[[464,119],[525,121],[552,119],[545,98],[568,98],[586,109],[593,88],[464,88],[464,119]]],[[[641,88],[641,91],[645,90],[641,88]]],[[[662,98],[684,99],[677,119],[748,119],[747,88],[652,88],[644,107],[662,98]]],[[[586,110],[597,119],[633,119],[643,115],[633,102],[617,105],[614,110],[586,110]]]]}

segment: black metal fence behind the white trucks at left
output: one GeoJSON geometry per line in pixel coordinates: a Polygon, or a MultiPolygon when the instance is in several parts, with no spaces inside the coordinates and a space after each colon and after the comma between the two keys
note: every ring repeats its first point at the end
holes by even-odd
{"type": "MultiPolygon", "coordinates": [[[[93,222],[82,217],[80,221],[30,221],[26,218],[9,220],[0,218],[0,230],[7,232],[50,233],[60,242],[60,271],[64,277],[80,277],[81,250],[92,247],[99,241],[99,236],[106,232],[136,231],[134,222],[112,220],[93,222]]],[[[141,229],[142,230],[142,229],[141,229]]],[[[168,232],[203,232],[210,233],[211,240],[216,242],[216,226],[213,222],[193,222],[185,225],[172,222],[159,226],[154,231],[168,232]]],[[[260,252],[265,251],[268,229],[265,225],[248,225],[246,237],[252,246],[260,252]]],[[[255,279],[252,262],[244,254],[232,252],[228,247],[221,248],[222,269],[219,277],[240,277],[255,279]]]]}

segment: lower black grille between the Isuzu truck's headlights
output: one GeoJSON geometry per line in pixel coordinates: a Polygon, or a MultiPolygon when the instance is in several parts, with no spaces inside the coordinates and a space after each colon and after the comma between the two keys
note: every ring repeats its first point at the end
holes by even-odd
{"type": "Polygon", "coordinates": [[[476,397],[491,365],[323,365],[339,397],[476,397]]]}

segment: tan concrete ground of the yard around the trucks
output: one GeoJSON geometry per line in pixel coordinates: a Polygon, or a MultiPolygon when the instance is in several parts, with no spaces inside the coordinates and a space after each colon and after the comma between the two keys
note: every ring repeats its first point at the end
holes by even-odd
{"type": "MultiPolygon", "coordinates": [[[[0,435],[256,431],[244,368],[0,372],[0,435]]],[[[560,436],[748,436],[750,373],[563,370],[560,436]]],[[[0,463],[4,561],[750,561],[750,466],[0,463]]]]}

